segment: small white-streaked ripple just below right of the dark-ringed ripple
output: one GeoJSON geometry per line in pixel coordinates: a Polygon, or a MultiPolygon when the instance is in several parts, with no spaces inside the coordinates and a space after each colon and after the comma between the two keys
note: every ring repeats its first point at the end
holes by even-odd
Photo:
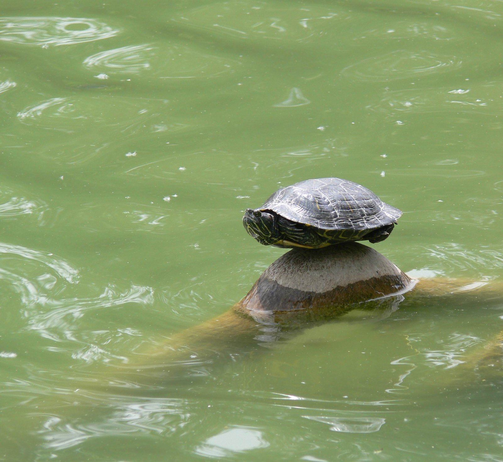
{"type": "Polygon", "coordinates": [[[148,58],[153,58],[153,48],[148,45],[124,46],[93,54],[84,60],[87,67],[99,67],[118,72],[139,72],[148,69],[148,58]]]}

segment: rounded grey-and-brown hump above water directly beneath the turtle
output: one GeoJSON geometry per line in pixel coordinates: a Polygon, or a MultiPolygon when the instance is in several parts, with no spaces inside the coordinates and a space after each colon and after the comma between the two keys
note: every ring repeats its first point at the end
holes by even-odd
{"type": "Polygon", "coordinates": [[[356,242],[292,249],[264,271],[234,310],[262,323],[321,320],[346,313],[356,303],[382,304],[386,297],[392,302],[415,282],[379,252],[356,242]]]}

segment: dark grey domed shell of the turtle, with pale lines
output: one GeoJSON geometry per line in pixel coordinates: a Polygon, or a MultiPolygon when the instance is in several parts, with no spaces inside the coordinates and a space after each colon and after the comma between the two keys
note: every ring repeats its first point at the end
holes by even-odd
{"type": "Polygon", "coordinates": [[[281,188],[260,210],[319,229],[355,231],[395,223],[402,214],[364,186],[341,178],[317,178],[281,188]]]}

